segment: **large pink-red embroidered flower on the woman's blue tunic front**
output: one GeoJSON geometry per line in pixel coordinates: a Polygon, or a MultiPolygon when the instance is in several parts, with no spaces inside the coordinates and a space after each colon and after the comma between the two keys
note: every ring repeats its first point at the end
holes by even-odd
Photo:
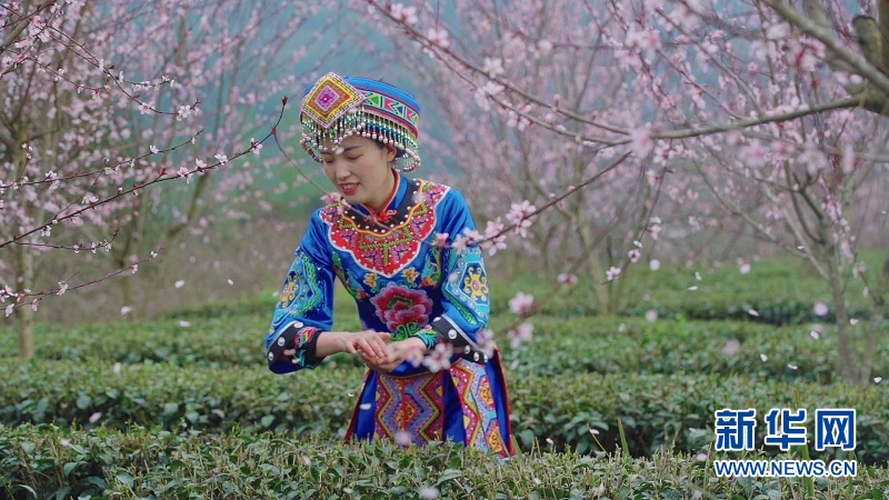
{"type": "Polygon", "coordinates": [[[403,340],[429,322],[432,301],[422,290],[412,290],[390,282],[370,299],[377,317],[386,322],[392,340],[403,340]]]}

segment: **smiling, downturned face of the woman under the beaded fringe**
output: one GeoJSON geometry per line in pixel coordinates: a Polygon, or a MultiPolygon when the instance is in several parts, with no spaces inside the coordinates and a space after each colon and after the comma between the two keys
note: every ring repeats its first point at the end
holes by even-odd
{"type": "Polygon", "coordinates": [[[364,137],[350,136],[339,152],[321,154],[324,173],[349,204],[366,204],[381,210],[394,189],[394,174],[389,163],[396,148],[380,146],[364,137]]]}

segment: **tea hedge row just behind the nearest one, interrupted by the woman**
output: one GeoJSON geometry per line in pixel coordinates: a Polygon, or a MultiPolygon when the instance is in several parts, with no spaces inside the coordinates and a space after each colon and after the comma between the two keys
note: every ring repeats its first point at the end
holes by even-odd
{"type": "MultiPolygon", "coordinates": [[[[353,367],[272,376],[262,368],[180,368],[108,363],[0,363],[0,422],[16,426],[131,423],[224,432],[276,430],[296,436],[342,434],[360,390],[353,367]]],[[[629,451],[707,450],[713,412],[722,408],[857,410],[857,453],[868,463],[889,461],[889,390],[849,388],[713,374],[509,372],[513,431],[526,449],[550,440],[581,453],[612,451],[626,429],[629,451]],[[601,448],[600,448],[601,444],[601,448]]],[[[765,436],[766,426],[757,428],[765,436]]],[[[832,452],[828,449],[828,452],[832,452]]],[[[812,452],[815,454],[815,452],[812,452]]]]}

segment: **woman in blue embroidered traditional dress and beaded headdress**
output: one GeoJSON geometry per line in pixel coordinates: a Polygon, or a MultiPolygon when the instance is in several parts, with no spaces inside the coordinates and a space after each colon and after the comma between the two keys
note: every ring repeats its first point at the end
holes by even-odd
{"type": "Polygon", "coordinates": [[[419,106],[390,84],[328,73],[306,90],[300,120],[303,149],[341,197],[312,213],[296,251],[266,338],[269,368],[360,357],[368,371],[347,441],[451,440],[511,456],[500,357],[483,346],[485,264],[462,237],[475,230],[469,208],[456,190],[401,173],[420,166],[419,106]],[[334,277],[362,331],[330,331],[334,277]],[[421,363],[427,353],[441,362],[421,363]]]}

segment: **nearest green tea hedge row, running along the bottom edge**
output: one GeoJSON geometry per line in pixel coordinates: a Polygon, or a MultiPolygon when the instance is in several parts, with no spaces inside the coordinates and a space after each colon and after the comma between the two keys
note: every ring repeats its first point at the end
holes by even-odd
{"type": "MultiPolygon", "coordinates": [[[[750,456],[748,458],[757,458],[750,456]]],[[[817,498],[885,498],[885,469],[816,479],[817,498]]],[[[0,428],[0,497],[83,499],[806,499],[798,479],[720,479],[709,460],[533,450],[506,462],[453,444],[400,449],[272,433],[0,428]]]]}

